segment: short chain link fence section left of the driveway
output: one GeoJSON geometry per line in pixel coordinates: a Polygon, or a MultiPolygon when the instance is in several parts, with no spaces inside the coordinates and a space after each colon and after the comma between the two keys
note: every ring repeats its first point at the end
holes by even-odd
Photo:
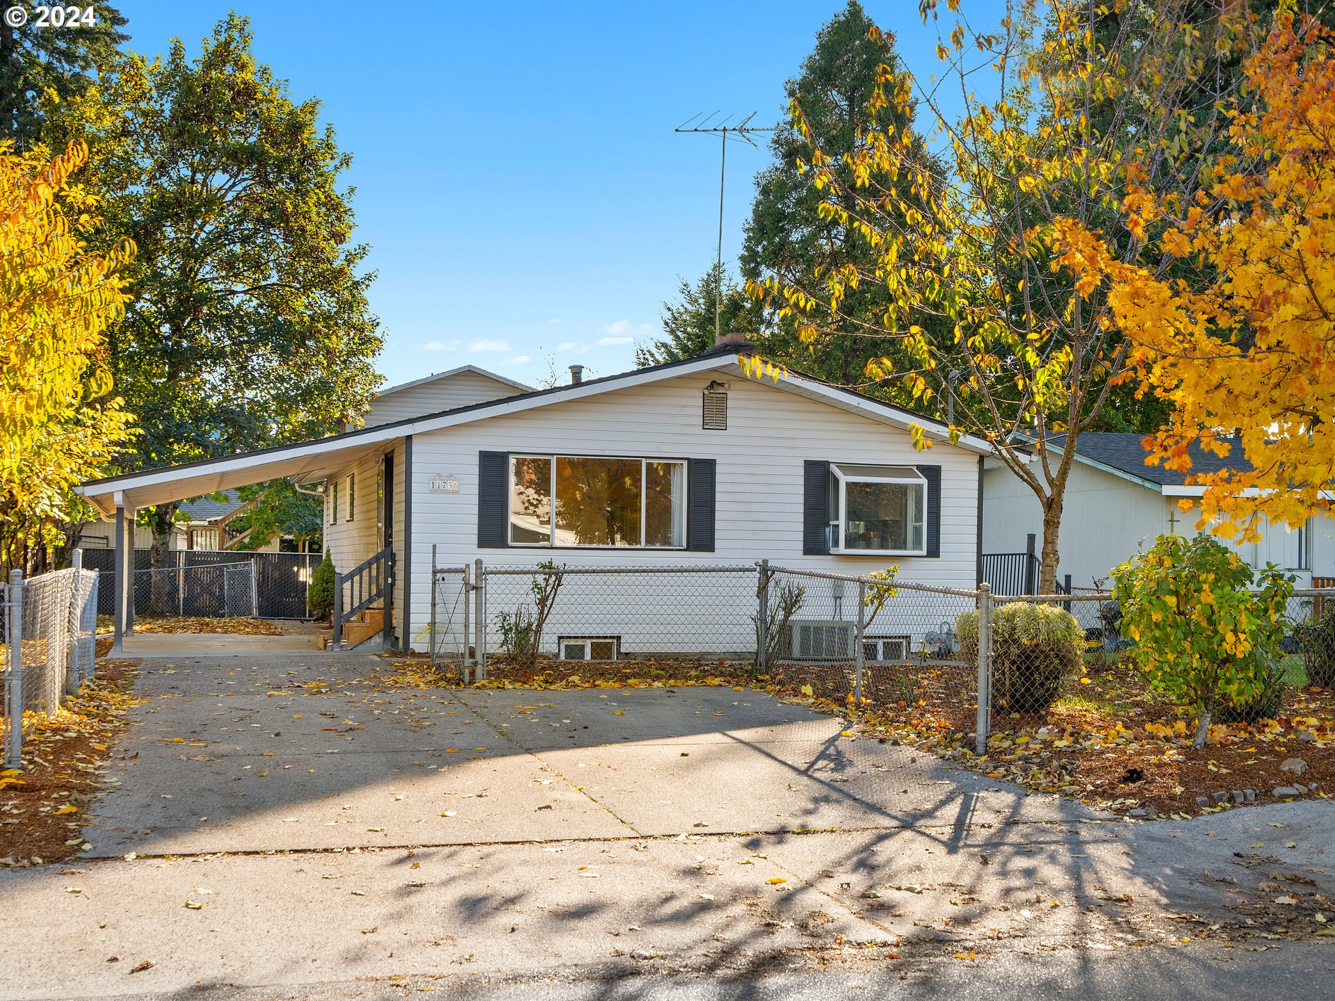
{"type": "Polygon", "coordinates": [[[61,699],[93,677],[97,574],[79,566],[4,585],[5,767],[19,767],[27,726],[60,709],[61,699]]]}

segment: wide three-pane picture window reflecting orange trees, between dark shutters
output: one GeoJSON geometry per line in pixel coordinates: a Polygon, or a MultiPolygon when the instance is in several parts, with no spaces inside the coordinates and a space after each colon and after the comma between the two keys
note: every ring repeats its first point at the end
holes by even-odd
{"type": "Polygon", "coordinates": [[[513,455],[510,545],[681,549],[686,463],[513,455]]]}

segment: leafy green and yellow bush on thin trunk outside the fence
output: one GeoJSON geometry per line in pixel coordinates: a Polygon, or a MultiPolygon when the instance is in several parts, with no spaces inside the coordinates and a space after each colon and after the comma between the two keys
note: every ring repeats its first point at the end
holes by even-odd
{"type": "Polygon", "coordinates": [[[1125,657],[1151,687],[1195,713],[1197,749],[1219,707],[1235,718],[1259,718],[1270,703],[1270,711],[1278,709],[1292,577],[1267,566],[1254,578],[1236,553],[1208,535],[1160,535],[1112,575],[1121,631],[1136,641],[1125,657]]]}

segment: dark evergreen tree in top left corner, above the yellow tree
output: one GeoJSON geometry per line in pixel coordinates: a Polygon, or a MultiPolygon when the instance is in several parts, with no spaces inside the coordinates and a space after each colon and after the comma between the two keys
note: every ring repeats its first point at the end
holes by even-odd
{"type": "Polygon", "coordinates": [[[92,24],[37,27],[37,17],[29,16],[15,28],[0,17],[0,139],[31,147],[41,136],[45,92],[60,101],[85,93],[129,37],[113,5],[99,1],[84,9],[92,12],[92,24]]]}

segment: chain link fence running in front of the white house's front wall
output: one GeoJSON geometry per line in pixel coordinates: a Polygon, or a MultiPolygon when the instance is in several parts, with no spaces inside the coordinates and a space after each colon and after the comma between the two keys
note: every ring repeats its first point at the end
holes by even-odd
{"type": "MultiPolygon", "coordinates": [[[[573,662],[722,662],[809,695],[930,719],[980,753],[995,730],[1044,725],[1055,706],[1079,705],[1088,673],[1115,666],[1131,645],[1112,595],[1088,589],[993,595],[988,585],[940,587],[768,561],[477,561],[434,567],[431,579],[431,659],[465,683],[485,678],[489,665],[523,674],[575,673],[573,662]]],[[[1287,618],[1286,653],[1296,665],[1304,626],[1335,627],[1335,590],[1296,591],[1287,618]]]]}

